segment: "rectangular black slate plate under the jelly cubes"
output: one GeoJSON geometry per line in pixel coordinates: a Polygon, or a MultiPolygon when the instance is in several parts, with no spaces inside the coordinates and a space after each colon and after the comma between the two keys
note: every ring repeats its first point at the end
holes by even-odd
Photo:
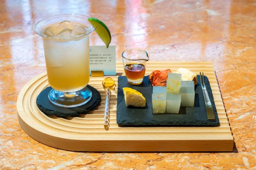
{"type": "MultiPolygon", "coordinates": [[[[199,76],[197,79],[200,80],[199,76]]],[[[117,111],[116,122],[121,126],[217,126],[219,118],[212,96],[209,80],[204,76],[205,85],[213,105],[215,120],[208,120],[205,110],[203,91],[200,82],[195,85],[195,107],[180,107],[179,114],[153,114],[152,113],[152,90],[153,87],[145,76],[140,85],[131,85],[125,76],[118,77],[117,111]],[[131,87],[143,94],[146,98],[146,107],[126,107],[124,101],[123,87],[131,87]]]]}

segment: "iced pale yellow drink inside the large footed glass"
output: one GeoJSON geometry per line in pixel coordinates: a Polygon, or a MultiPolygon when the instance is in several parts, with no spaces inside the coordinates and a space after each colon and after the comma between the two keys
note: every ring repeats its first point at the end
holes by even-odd
{"type": "Polygon", "coordinates": [[[44,55],[48,81],[53,89],[75,92],[89,83],[89,34],[84,35],[86,32],[86,26],[69,21],[42,30],[47,37],[43,38],[44,55]]]}

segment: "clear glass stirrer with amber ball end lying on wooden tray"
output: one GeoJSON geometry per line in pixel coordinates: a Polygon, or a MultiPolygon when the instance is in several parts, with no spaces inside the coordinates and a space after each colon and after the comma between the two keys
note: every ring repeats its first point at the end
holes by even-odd
{"type": "Polygon", "coordinates": [[[105,113],[104,113],[104,128],[108,130],[109,128],[109,97],[110,91],[115,90],[116,84],[115,81],[108,77],[102,81],[104,90],[106,91],[106,101],[105,101],[105,113]]]}

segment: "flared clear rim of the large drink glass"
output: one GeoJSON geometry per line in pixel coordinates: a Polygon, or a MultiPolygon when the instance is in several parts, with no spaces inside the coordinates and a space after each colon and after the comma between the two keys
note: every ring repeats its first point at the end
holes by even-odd
{"type": "MultiPolygon", "coordinates": [[[[51,40],[70,40],[70,39],[75,39],[75,38],[79,38],[79,37],[88,35],[88,34],[92,33],[92,32],[97,28],[97,26],[96,26],[96,27],[93,27],[92,24],[90,23],[93,29],[90,30],[89,32],[86,32],[85,34],[79,35],[79,36],[74,37],[74,38],[62,38],[62,39],[58,39],[58,38],[49,38],[49,37],[46,37],[46,36],[44,36],[43,34],[41,34],[41,32],[38,33],[38,32],[36,31],[36,26],[37,26],[37,24],[39,24],[40,22],[42,22],[42,21],[44,21],[44,20],[46,20],[46,19],[50,19],[50,18],[53,18],[53,17],[59,17],[59,16],[80,16],[80,17],[85,17],[85,18],[87,18],[87,19],[90,18],[89,16],[86,16],[86,15],[74,14],[74,13],[72,13],[72,14],[53,15],[53,16],[51,16],[51,17],[47,17],[47,18],[44,18],[44,19],[41,19],[41,20],[37,21],[36,24],[33,26],[34,32],[35,32],[37,35],[39,35],[39,36],[41,36],[41,37],[43,37],[43,38],[48,38],[48,39],[51,39],[51,40]]],[[[88,20],[87,20],[87,21],[88,21],[88,20]]],[[[89,21],[88,21],[88,22],[89,22],[89,21]]],[[[41,30],[41,31],[42,31],[42,30],[41,30]]]]}

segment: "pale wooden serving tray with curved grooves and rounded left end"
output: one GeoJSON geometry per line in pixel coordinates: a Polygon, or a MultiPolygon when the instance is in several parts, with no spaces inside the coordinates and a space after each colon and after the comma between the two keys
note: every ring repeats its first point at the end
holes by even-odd
{"type": "MultiPolygon", "coordinates": [[[[46,72],[30,80],[20,91],[17,100],[20,126],[30,137],[43,144],[72,151],[232,151],[234,141],[211,62],[148,62],[146,75],[153,70],[170,68],[175,71],[180,67],[196,74],[203,71],[209,78],[220,120],[219,127],[118,127],[116,88],[111,92],[110,128],[107,131],[103,127],[106,98],[102,88],[104,77],[91,77],[89,82],[101,95],[102,101],[96,110],[79,117],[47,116],[36,106],[37,95],[49,86],[46,72]]],[[[116,72],[122,75],[122,63],[116,63],[116,72]]],[[[118,76],[113,78],[117,84],[118,76]]]]}

